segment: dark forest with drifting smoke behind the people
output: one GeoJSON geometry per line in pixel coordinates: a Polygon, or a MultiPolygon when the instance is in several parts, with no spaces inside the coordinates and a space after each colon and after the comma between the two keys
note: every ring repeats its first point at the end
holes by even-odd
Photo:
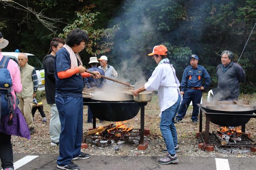
{"type": "Polygon", "coordinates": [[[255,0],[0,0],[0,31],[9,40],[3,51],[19,49],[42,61],[53,37],[78,27],[89,34],[83,64],[106,55],[119,80],[131,84],[150,77],[156,63],[147,54],[164,44],[179,80],[188,57],[198,55],[210,89],[217,87],[221,52],[232,51],[246,73],[241,93],[256,93],[255,24],[255,0]]]}

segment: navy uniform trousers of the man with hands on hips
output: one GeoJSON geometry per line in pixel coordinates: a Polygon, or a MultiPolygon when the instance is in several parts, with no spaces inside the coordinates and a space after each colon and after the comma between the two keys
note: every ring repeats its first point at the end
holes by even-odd
{"type": "Polygon", "coordinates": [[[181,102],[180,109],[178,110],[178,115],[176,116],[177,120],[182,120],[187,112],[187,108],[192,101],[193,112],[191,119],[197,120],[199,114],[199,107],[197,104],[200,103],[202,98],[202,90],[194,90],[186,88],[185,94],[183,95],[183,101],[181,102]]]}

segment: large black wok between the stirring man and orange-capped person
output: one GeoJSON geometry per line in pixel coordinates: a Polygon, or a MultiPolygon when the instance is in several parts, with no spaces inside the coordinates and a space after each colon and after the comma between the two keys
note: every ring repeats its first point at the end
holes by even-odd
{"type": "Polygon", "coordinates": [[[129,101],[99,101],[93,99],[83,99],[84,105],[90,106],[93,115],[104,121],[126,121],[135,117],[142,105],[147,103],[138,103],[129,101]]]}

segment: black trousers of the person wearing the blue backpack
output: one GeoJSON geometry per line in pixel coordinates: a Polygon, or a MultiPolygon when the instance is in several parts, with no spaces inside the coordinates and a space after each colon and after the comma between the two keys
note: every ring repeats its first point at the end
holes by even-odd
{"type": "Polygon", "coordinates": [[[3,132],[0,132],[0,159],[3,169],[13,168],[13,148],[11,146],[11,135],[7,135],[3,132]]]}

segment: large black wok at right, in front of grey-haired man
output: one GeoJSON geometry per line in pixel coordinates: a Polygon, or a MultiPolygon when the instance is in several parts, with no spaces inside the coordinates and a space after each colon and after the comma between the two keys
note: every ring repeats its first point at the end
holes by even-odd
{"type": "Polygon", "coordinates": [[[214,124],[220,126],[242,126],[249,122],[250,117],[243,117],[237,114],[252,114],[256,111],[255,107],[245,107],[241,110],[237,109],[236,111],[226,110],[221,108],[221,106],[209,107],[207,105],[201,104],[202,108],[208,113],[225,113],[228,115],[215,114],[210,116],[210,121],[214,124]]]}

